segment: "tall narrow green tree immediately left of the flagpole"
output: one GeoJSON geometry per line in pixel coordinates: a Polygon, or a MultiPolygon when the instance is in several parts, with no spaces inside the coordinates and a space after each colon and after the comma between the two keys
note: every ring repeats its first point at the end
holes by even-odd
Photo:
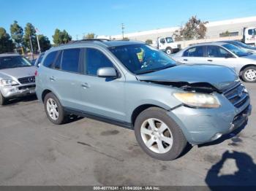
{"type": "Polygon", "coordinates": [[[27,23],[25,27],[25,34],[24,34],[24,47],[26,47],[26,50],[30,50],[32,52],[30,39],[32,42],[33,47],[33,53],[38,52],[38,45],[37,45],[37,36],[36,36],[36,29],[31,23],[27,23]]]}

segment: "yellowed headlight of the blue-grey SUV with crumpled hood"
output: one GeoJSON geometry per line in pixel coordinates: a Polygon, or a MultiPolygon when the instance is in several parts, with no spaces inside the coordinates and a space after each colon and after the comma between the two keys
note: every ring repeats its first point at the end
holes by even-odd
{"type": "Polygon", "coordinates": [[[218,108],[221,106],[215,95],[206,93],[173,93],[173,95],[187,106],[218,108]]]}

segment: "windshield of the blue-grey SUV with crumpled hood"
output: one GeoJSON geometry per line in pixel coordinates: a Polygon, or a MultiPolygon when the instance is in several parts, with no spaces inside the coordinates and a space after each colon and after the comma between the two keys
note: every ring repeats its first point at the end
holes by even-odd
{"type": "Polygon", "coordinates": [[[146,44],[110,47],[110,51],[133,74],[146,74],[176,66],[176,62],[165,55],[164,52],[146,44]]]}

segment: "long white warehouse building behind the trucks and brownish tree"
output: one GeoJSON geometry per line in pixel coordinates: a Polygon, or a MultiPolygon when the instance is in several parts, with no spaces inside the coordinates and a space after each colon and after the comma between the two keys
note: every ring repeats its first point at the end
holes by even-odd
{"type": "MultiPolygon", "coordinates": [[[[230,39],[241,39],[244,27],[249,26],[256,27],[256,16],[209,22],[206,24],[206,39],[219,39],[226,31],[229,32],[230,39]]],[[[173,36],[174,31],[178,29],[179,27],[161,28],[150,31],[139,31],[135,33],[124,34],[124,36],[129,39],[139,40],[143,42],[145,42],[146,39],[151,39],[155,41],[159,36],[173,36]]],[[[98,36],[98,38],[122,39],[122,35],[119,34],[113,36],[98,36]]],[[[205,41],[208,41],[206,39],[205,41]]]]}

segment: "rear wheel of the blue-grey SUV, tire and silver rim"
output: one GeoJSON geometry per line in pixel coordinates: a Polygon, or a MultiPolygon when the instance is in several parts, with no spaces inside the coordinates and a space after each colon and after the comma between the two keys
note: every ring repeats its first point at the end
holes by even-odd
{"type": "Polygon", "coordinates": [[[64,109],[56,95],[53,93],[45,95],[44,106],[45,113],[50,122],[53,122],[56,125],[61,125],[65,122],[64,109]]]}

